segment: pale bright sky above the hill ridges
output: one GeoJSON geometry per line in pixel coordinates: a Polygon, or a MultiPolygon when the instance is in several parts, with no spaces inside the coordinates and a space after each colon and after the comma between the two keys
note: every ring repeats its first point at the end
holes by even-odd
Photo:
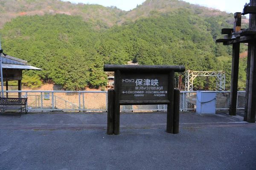
{"type": "MultiPolygon", "coordinates": [[[[102,6],[116,6],[125,11],[136,8],[137,4],[141,5],[145,0],[63,0],[70,1],[72,3],[89,3],[99,4],[102,6]]],[[[209,8],[216,8],[228,13],[242,12],[245,3],[249,3],[250,0],[183,0],[192,4],[199,4],[209,8]]]]}

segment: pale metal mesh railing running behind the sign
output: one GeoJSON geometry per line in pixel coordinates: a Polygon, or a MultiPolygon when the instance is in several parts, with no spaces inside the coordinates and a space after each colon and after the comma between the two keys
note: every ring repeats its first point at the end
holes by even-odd
{"type": "MultiPolygon", "coordinates": [[[[21,94],[28,98],[27,110],[32,112],[106,112],[108,110],[107,91],[4,91],[4,96],[21,94]]],[[[180,91],[180,111],[196,109],[196,91],[180,91]]],[[[216,110],[227,110],[230,91],[216,91],[216,110]]],[[[245,91],[238,91],[237,109],[244,109],[245,91]]],[[[122,105],[120,111],[166,111],[167,105],[122,105]]]]}

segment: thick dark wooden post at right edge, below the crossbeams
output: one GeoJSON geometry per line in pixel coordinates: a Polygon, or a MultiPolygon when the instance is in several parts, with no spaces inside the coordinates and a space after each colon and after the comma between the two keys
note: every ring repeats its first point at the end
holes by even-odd
{"type": "Polygon", "coordinates": [[[256,43],[251,43],[250,82],[247,108],[247,122],[255,122],[256,114],[256,43]]]}

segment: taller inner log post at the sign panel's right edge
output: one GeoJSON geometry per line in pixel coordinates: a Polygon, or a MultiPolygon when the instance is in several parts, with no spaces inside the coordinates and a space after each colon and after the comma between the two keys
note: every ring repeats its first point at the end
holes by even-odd
{"type": "Polygon", "coordinates": [[[173,133],[173,122],[174,122],[174,71],[169,72],[169,82],[168,82],[168,99],[170,103],[167,105],[167,123],[166,132],[173,133]]]}

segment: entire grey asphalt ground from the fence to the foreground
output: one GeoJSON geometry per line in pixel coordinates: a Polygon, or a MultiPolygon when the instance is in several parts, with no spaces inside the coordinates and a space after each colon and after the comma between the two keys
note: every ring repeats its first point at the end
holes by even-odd
{"type": "Polygon", "coordinates": [[[0,114],[0,170],[255,170],[256,125],[242,114],[125,113],[106,134],[105,113],[0,114]]]}

